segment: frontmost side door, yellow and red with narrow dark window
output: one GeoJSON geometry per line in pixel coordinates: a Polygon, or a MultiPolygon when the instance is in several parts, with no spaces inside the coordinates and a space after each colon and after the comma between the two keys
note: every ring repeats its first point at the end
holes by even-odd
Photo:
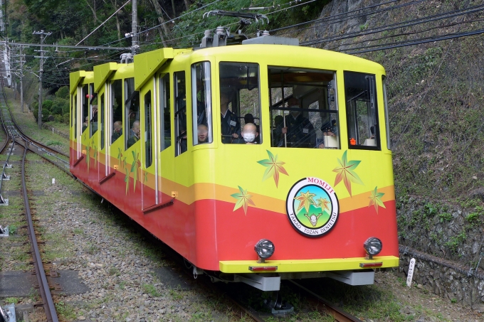
{"type": "Polygon", "coordinates": [[[144,213],[149,212],[156,207],[158,203],[158,169],[156,162],[158,151],[156,147],[158,136],[154,129],[157,129],[157,108],[156,100],[156,81],[153,77],[152,81],[147,82],[145,87],[148,88],[146,93],[142,93],[142,104],[144,109],[142,116],[142,210],[144,213]]]}

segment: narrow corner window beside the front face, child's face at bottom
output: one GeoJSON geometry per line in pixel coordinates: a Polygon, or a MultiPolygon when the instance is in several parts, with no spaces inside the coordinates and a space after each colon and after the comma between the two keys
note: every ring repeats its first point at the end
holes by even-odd
{"type": "Polygon", "coordinates": [[[191,108],[194,145],[212,142],[210,63],[191,65],[191,108]]]}

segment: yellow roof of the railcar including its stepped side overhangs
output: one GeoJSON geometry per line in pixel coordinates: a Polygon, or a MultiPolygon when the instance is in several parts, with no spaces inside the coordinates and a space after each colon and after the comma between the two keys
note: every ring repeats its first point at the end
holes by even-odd
{"type": "MultiPolygon", "coordinates": [[[[332,70],[343,69],[362,73],[385,73],[382,65],[371,60],[345,53],[298,45],[243,44],[211,48],[160,48],[135,55],[134,64],[105,63],[96,65],[94,67],[95,92],[98,92],[100,86],[117,70],[125,68],[129,70],[136,67],[135,88],[139,90],[167,61],[188,61],[190,63],[214,57],[219,61],[254,62],[274,66],[312,69],[320,65],[332,70]]],[[[88,72],[80,70],[70,74],[71,92],[75,90],[75,87],[86,76],[85,73],[88,72]]]]}

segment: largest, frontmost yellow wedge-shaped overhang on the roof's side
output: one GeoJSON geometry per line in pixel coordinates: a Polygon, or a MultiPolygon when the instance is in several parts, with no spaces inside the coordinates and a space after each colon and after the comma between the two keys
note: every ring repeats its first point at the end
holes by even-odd
{"type": "Polygon", "coordinates": [[[135,90],[140,90],[167,60],[173,58],[173,48],[161,48],[135,55],[135,90]]]}

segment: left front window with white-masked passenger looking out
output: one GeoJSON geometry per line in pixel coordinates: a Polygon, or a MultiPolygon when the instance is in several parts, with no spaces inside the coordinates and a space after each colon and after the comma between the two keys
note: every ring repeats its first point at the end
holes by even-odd
{"type": "Polygon", "coordinates": [[[259,65],[222,62],[219,68],[222,143],[261,143],[259,65]]]}

